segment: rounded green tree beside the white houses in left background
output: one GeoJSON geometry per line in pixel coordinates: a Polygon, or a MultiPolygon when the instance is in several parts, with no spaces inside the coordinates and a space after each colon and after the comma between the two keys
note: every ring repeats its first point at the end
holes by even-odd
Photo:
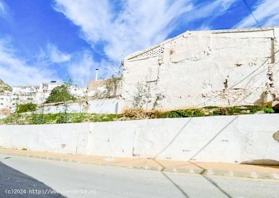
{"type": "Polygon", "coordinates": [[[75,97],[69,93],[67,86],[61,85],[52,90],[45,103],[66,102],[74,99],[75,97]]]}

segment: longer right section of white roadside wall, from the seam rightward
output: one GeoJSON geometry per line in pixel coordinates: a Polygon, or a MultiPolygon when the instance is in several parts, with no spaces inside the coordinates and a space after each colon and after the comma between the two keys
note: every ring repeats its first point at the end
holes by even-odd
{"type": "MultiPolygon", "coordinates": [[[[279,114],[91,123],[87,154],[200,162],[279,161],[279,114]]],[[[279,162],[278,162],[279,163],[279,162]]]]}

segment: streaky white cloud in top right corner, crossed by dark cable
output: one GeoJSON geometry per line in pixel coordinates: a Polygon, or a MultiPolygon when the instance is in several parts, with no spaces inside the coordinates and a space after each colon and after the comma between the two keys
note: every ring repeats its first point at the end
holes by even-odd
{"type": "MultiPolygon", "coordinates": [[[[252,8],[255,18],[261,26],[276,26],[279,25],[279,1],[278,0],[263,0],[252,8]]],[[[247,28],[258,26],[257,22],[250,14],[235,25],[237,28],[247,28]]]]}

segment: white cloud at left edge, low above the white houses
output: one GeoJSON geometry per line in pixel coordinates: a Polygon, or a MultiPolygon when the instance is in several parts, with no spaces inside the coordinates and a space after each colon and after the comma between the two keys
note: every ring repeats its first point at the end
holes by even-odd
{"type": "Polygon", "coordinates": [[[28,65],[16,56],[11,39],[0,39],[0,78],[9,85],[38,85],[50,81],[55,73],[46,65],[28,65]]]}

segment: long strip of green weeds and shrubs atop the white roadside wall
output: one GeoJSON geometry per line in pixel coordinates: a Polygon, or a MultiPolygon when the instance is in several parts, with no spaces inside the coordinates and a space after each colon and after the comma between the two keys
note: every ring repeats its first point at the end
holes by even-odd
{"type": "MultiPolygon", "coordinates": [[[[258,111],[273,113],[274,109],[260,106],[241,106],[241,107],[216,107],[216,108],[199,108],[199,109],[181,109],[168,112],[153,111],[147,114],[148,118],[176,118],[176,117],[199,117],[212,115],[235,115],[235,114],[252,114],[258,111]]],[[[142,112],[126,112],[124,114],[96,114],[96,113],[67,113],[43,114],[35,113],[20,114],[12,113],[8,117],[0,120],[1,124],[7,125],[39,125],[54,123],[82,123],[82,122],[109,122],[144,119],[142,112]]]]}

